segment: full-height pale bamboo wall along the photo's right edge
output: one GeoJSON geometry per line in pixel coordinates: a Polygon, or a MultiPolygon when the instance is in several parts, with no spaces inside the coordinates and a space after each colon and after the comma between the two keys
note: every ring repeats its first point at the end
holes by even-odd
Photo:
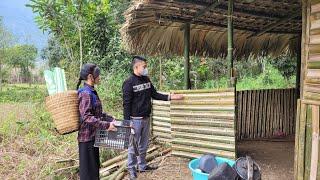
{"type": "Polygon", "coordinates": [[[302,1],[302,100],[298,101],[295,179],[320,179],[320,1],[302,1]]]}

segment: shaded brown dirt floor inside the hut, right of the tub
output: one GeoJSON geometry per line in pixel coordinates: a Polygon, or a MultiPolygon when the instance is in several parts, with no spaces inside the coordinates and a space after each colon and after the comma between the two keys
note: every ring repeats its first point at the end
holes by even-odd
{"type": "Polygon", "coordinates": [[[238,142],[238,156],[251,156],[260,166],[262,179],[294,179],[294,141],[242,141],[238,142]]]}

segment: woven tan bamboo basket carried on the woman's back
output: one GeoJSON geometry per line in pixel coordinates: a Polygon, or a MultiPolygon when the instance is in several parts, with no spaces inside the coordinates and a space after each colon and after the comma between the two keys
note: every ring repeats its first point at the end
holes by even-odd
{"type": "Polygon", "coordinates": [[[79,100],[77,91],[66,91],[46,97],[46,107],[51,113],[60,134],[79,129],[79,100]]]}

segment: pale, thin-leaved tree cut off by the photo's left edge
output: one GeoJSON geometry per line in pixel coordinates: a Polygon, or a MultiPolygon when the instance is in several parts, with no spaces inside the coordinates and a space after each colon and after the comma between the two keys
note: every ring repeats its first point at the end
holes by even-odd
{"type": "Polygon", "coordinates": [[[13,35],[5,28],[2,23],[2,17],[0,16],[0,91],[2,90],[2,83],[8,75],[8,71],[5,69],[5,63],[8,56],[8,47],[12,42],[13,35]]]}

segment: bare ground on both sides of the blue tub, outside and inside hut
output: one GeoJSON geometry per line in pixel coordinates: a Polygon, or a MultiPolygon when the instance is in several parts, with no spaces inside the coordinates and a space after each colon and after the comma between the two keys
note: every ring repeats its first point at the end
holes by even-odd
{"type": "MultiPolygon", "coordinates": [[[[260,166],[263,180],[293,179],[294,141],[243,141],[238,143],[239,156],[249,155],[260,166]]],[[[138,174],[138,180],[192,180],[189,160],[167,155],[156,158],[151,164],[159,168],[138,174]]],[[[128,175],[124,178],[128,179],[128,175]]]]}

